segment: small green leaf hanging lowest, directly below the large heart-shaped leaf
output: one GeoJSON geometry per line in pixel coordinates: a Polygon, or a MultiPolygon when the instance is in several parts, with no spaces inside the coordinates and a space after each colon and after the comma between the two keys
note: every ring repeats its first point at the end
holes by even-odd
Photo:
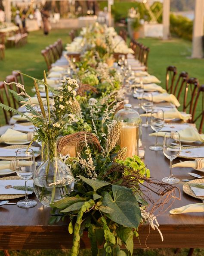
{"type": "Polygon", "coordinates": [[[116,230],[117,236],[124,242],[130,255],[133,254],[133,230],[130,227],[119,227],[116,230]]]}

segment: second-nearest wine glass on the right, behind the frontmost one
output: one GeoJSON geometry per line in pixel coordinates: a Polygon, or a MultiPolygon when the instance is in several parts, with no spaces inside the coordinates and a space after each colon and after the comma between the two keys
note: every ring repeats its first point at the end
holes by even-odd
{"type": "Polygon", "coordinates": [[[158,145],[158,131],[164,126],[164,111],[162,109],[153,109],[150,118],[151,128],[156,131],[156,141],[154,146],[150,146],[149,149],[153,151],[160,151],[163,147],[158,145]]]}

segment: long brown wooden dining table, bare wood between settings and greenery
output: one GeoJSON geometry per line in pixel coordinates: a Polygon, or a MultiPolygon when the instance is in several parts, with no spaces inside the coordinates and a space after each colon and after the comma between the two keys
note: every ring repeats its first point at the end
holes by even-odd
{"type": "MultiPolygon", "coordinates": [[[[130,96],[130,103],[136,100],[130,96]]],[[[169,176],[170,160],[162,151],[151,151],[149,146],[155,143],[155,137],[148,136],[152,132],[150,127],[142,128],[142,143],[146,146],[144,162],[151,171],[151,178],[162,180],[169,176]]],[[[158,138],[162,144],[163,138],[158,138]]],[[[198,145],[194,143],[190,145],[198,145]]],[[[173,163],[179,162],[179,159],[173,163]]],[[[180,180],[188,179],[187,172],[191,168],[173,168],[173,173],[180,180]]],[[[176,186],[180,189],[181,199],[175,200],[170,209],[184,205],[199,203],[200,200],[182,192],[180,181],[176,186]]],[[[30,195],[35,198],[35,195],[30,195]]],[[[36,199],[37,200],[37,199],[36,199]]],[[[11,202],[17,202],[18,199],[11,202]]],[[[169,204],[165,205],[168,208],[169,204]]],[[[134,248],[202,248],[204,247],[204,213],[169,214],[169,210],[158,213],[157,220],[164,241],[161,241],[157,230],[151,230],[148,224],[139,227],[139,239],[134,239],[134,248]]],[[[23,250],[23,249],[54,249],[71,248],[72,235],[68,232],[69,220],[57,224],[49,224],[51,208],[43,206],[40,202],[34,208],[19,208],[16,205],[3,205],[0,207],[0,249],[23,250]]],[[[90,248],[87,232],[80,242],[80,248],[90,248]]]]}

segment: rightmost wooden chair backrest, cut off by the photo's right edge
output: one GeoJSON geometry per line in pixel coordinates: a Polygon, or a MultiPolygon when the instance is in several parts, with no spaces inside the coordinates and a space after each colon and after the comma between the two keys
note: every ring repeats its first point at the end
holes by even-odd
{"type": "Polygon", "coordinates": [[[192,110],[192,123],[199,122],[199,133],[204,133],[203,123],[204,123],[204,85],[198,88],[197,95],[195,98],[193,110],[192,110]]]}

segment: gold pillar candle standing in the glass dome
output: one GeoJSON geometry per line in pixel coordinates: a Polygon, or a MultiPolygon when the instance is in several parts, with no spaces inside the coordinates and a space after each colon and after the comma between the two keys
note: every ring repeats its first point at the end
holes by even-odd
{"type": "Polygon", "coordinates": [[[139,126],[134,123],[123,123],[121,128],[120,146],[127,147],[126,157],[138,155],[139,126]]]}

